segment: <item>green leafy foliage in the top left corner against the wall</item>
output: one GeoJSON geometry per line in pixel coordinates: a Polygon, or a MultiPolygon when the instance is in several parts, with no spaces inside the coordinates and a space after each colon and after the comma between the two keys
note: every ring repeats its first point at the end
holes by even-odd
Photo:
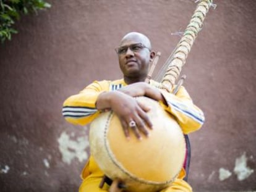
{"type": "Polygon", "coordinates": [[[51,7],[44,0],[0,0],[0,41],[11,40],[18,33],[14,23],[22,15],[37,14],[38,10],[51,7]]]}

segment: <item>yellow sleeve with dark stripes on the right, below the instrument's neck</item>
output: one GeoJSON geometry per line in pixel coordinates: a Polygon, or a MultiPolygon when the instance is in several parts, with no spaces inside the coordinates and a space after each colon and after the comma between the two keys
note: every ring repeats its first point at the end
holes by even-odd
{"type": "Polygon", "coordinates": [[[202,127],[205,120],[203,112],[194,105],[184,86],[181,86],[176,95],[165,90],[160,91],[168,103],[166,110],[176,117],[183,133],[188,134],[202,127]]]}

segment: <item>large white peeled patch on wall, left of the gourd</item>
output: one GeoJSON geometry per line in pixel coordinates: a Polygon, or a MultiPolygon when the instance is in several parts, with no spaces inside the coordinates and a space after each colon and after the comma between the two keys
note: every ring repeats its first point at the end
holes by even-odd
{"type": "Polygon", "coordinates": [[[85,151],[89,146],[87,136],[80,136],[77,140],[71,140],[70,136],[64,131],[61,133],[58,142],[63,162],[70,164],[74,158],[83,162],[88,158],[87,151],[85,151]]]}

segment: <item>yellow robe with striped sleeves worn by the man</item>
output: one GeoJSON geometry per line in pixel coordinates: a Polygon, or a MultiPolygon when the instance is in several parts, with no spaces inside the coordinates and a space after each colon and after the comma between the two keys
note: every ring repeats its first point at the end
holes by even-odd
{"type": "MultiPolygon", "coordinates": [[[[157,82],[151,80],[150,84],[153,86],[156,85],[157,82]]],[[[115,91],[123,86],[126,86],[123,79],[115,81],[94,81],[84,90],[80,91],[79,94],[75,94],[66,99],[63,104],[62,114],[67,122],[86,125],[100,114],[100,111],[98,111],[95,106],[99,94],[103,91],[115,91]]],[[[176,117],[184,134],[188,134],[202,127],[204,122],[203,112],[193,104],[192,99],[183,86],[181,86],[176,95],[167,93],[164,90],[160,91],[168,103],[168,106],[165,106],[160,102],[161,106],[176,117]]],[[[82,171],[83,181],[79,191],[108,191],[109,186],[106,184],[102,189],[98,187],[103,175],[103,172],[91,156],[82,171]]],[[[179,177],[176,178],[172,185],[161,190],[161,192],[192,191],[190,185],[182,180],[185,175],[186,172],[182,169],[179,177]]]]}

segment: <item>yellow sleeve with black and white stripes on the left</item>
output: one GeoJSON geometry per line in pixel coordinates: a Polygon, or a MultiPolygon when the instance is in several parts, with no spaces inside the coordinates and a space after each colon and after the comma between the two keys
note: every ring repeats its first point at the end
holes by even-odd
{"type": "Polygon", "coordinates": [[[94,81],[79,94],[70,96],[64,101],[62,115],[67,122],[85,125],[95,119],[100,112],[95,102],[100,93],[109,90],[109,81],[94,81]]]}

